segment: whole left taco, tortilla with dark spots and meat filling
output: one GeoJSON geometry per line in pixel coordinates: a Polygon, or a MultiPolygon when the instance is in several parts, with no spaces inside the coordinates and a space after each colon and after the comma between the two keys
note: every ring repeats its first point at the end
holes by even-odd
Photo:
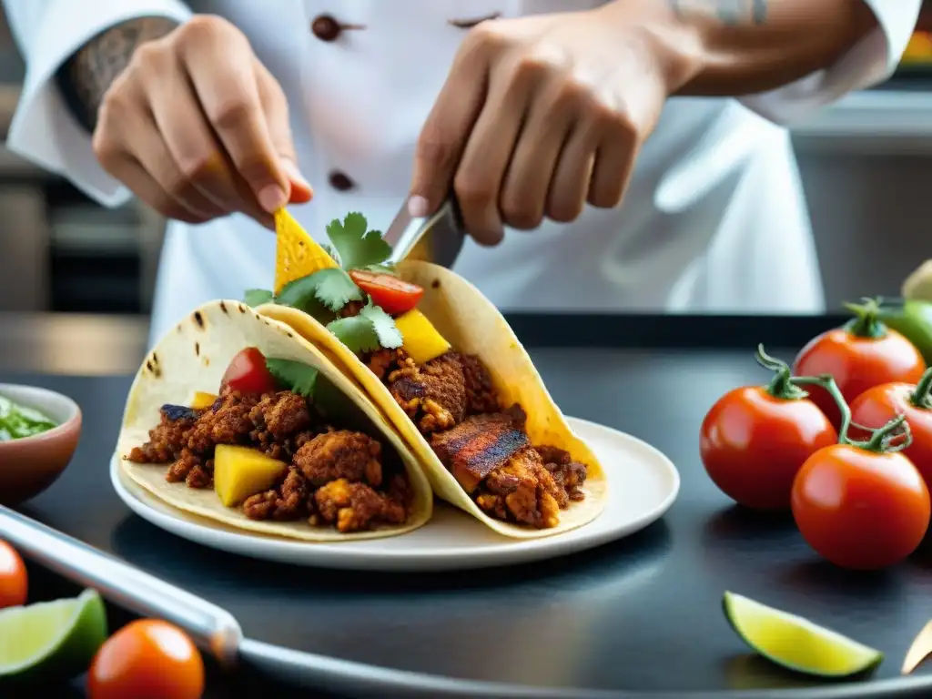
{"type": "Polygon", "coordinates": [[[117,448],[139,486],[230,528],[351,541],[432,514],[418,459],[359,387],[237,301],[198,308],[146,357],[117,448]]]}

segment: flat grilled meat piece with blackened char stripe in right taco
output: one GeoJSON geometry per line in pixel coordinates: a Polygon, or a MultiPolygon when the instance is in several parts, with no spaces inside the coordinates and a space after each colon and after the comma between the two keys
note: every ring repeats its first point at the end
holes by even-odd
{"type": "Polygon", "coordinates": [[[467,493],[515,454],[528,447],[528,435],[514,425],[514,415],[492,413],[466,418],[446,432],[432,435],[431,445],[467,493]]]}

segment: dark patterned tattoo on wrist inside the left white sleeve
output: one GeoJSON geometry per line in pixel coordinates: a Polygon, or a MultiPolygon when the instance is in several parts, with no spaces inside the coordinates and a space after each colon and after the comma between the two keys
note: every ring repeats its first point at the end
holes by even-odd
{"type": "Polygon", "coordinates": [[[78,122],[90,132],[97,127],[103,95],[130,64],[141,44],[169,34],[178,23],[164,17],[140,17],[97,34],[62,64],[55,80],[78,122]]]}

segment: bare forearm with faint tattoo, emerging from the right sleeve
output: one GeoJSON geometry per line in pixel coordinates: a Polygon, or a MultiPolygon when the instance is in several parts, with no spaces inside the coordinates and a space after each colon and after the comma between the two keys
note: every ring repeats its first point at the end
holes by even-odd
{"type": "MultiPolygon", "coordinates": [[[[637,1],[637,0],[636,0],[637,1]]],[[[617,0],[608,11],[625,12],[617,0]]],[[[640,0],[678,94],[741,96],[828,68],[877,27],[863,0],[640,0]]],[[[628,10],[629,11],[629,10],[628,10]]],[[[620,21],[624,21],[619,17],[620,21]]]]}

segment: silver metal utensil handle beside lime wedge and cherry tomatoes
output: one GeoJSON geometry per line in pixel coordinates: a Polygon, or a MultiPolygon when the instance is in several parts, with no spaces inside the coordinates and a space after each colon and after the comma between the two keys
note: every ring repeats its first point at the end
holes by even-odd
{"type": "Polygon", "coordinates": [[[2,505],[0,537],[120,607],[181,626],[222,665],[236,664],[242,630],[228,611],[2,505]]]}

